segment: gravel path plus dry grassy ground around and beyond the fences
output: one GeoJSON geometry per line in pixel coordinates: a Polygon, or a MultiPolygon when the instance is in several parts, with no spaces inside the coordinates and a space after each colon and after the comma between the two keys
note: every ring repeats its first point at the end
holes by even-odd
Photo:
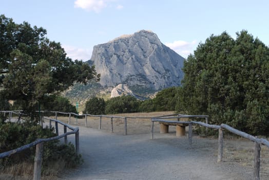
{"type": "MultiPolygon", "coordinates": [[[[113,116],[168,114],[173,112],[113,116]]],[[[57,119],[68,122],[68,117],[57,119]]],[[[168,134],[160,134],[160,125],[155,123],[154,138],[150,139],[150,119],[127,118],[127,136],[124,135],[123,119],[113,118],[113,133],[110,118],[102,118],[101,130],[98,130],[99,120],[99,117],[87,117],[86,128],[84,118],[71,118],[71,125],[80,128],[80,152],[84,164],[59,173],[58,177],[43,179],[254,179],[254,143],[249,140],[227,136],[223,161],[217,163],[218,139],[215,137],[196,135],[190,149],[187,128],[186,136],[176,137],[175,127],[169,127],[168,134]]],[[[60,125],[59,129],[63,132],[60,125]]],[[[68,136],[68,140],[74,141],[74,136],[68,136]]],[[[260,177],[269,179],[269,149],[266,147],[261,151],[260,177]]]]}

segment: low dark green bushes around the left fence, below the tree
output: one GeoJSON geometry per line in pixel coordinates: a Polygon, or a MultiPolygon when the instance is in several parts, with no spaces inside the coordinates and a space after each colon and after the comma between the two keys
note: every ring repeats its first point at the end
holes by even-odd
{"type": "MultiPolygon", "coordinates": [[[[0,153],[16,149],[33,142],[37,138],[48,138],[56,136],[54,129],[42,128],[29,122],[13,123],[6,122],[0,124],[0,153]]],[[[21,153],[0,159],[2,168],[7,168],[22,161],[31,163],[34,160],[35,147],[27,149],[21,153]]],[[[71,168],[82,163],[81,155],[76,155],[71,143],[59,145],[59,141],[49,141],[43,147],[43,172],[53,163],[64,161],[66,168],[71,168]]]]}

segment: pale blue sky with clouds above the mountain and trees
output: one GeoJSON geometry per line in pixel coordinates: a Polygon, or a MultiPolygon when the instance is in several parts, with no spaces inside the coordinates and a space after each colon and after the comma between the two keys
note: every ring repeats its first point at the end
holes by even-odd
{"type": "Polygon", "coordinates": [[[89,60],[94,45],[141,29],[186,58],[223,31],[247,30],[269,45],[267,0],[1,0],[0,14],[47,29],[72,59],[89,60]]]}

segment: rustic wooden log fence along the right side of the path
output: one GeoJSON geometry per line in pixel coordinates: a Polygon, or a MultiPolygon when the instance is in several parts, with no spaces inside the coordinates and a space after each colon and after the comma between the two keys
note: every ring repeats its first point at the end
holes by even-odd
{"type": "MultiPolygon", "coordinates": [[[[184,117],[182,115],[181,117],[184,117]]],[[[187,117],[187,116],[185,116],[187,117]]],[[[190,116],[188,116],[190,117],[190,116]]],[[[194,115],[191,117],[201,117],[199,115],[194,115]]],[[[261,153],[261,145],[266,146],[269,148],[269,141],[263,138],[257,138],[250,134],[244,133],[242,131],[239,131],[237,129],[234,129],[230,127],[227,124],[221,124],[221,125],[213,125],[203,122],[197,122],[197,121],[171,121],[171,120],[165,120],[165,119],[171,119],[171,118],[178,118],[178,117],[169,117],[169,118],[152,118],[151,119],[151,139],[153,139],[153,129],[154,129],[154,122],[166,122],[166,123],[175,123],[175,124],[188,124],[189,130],[188,130],[188,141],[189,141],[189,147],[192,148],[192,136],[193,136],[193,124],[198,124],[206,128],[213,128],[219,130],[219,140],[218,140],[218,160],[217,162],[222,161],[223,156],[223,130],[228,130],[229,132],[232,132],[234,134],[237,134],[239,136],[242,136],[246,139],[252,140],[255,142],[255,156],[254,156],[254,177],[255,180],[260,179],[260,153],[261,153]]]]}

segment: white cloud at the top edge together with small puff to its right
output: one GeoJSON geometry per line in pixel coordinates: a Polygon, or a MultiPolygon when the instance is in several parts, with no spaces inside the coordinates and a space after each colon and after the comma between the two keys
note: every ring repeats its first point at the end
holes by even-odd
{"type": "MultiPolygon", "coordinates": [[[[74,2],[75,8],[82,8],[87,11],[94,11],[99,13],[101,9],[109,6],[110,3],[115,3],[118,0],[76,0],[74,2]]],[[[111,6],[110,6],[111,7],[111,6]]],[[[115,6],[113,6],[115,7],[115,6]]],[[[116,9],[122,9],[122,5],[116,6],[116,9]]]]}

